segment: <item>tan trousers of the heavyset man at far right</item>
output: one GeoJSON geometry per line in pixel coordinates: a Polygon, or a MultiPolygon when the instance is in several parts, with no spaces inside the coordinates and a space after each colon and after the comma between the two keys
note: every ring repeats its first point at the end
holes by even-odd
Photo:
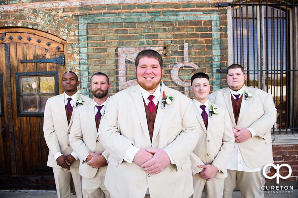
{"type": "Polygon", "coordinates": [[[224,181],[224,198],[232,198],[236,186],[238,186],[242,198],[264,198],[261,187],[265,184],[265,177],[262,171],[227,171],[228,177],[224,181]]]}

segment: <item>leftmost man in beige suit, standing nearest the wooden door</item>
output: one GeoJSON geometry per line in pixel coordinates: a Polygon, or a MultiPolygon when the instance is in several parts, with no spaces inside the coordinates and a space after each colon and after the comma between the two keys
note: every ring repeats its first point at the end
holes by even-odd
{"type": "Polygon", "coordinates": [[[64,93],[49,98],[44,110],[44,138],[49,147],[47,165],[53,168],[58,198],[70,198],[70,177],[75,183],[77,197],[82,197],[79,160],[68,141],[77,106],[91,101],[77,93],[80,84],[74,72],[67,71],[62,77],[64,93]],[[78,99],[80,98],[80,99],[78,99]]]}

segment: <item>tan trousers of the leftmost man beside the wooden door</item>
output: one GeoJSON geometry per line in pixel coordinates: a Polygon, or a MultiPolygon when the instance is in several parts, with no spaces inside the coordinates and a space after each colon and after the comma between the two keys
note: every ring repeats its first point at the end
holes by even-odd
{"type": "Polygon", "coordinates": [[[75,192],[78,198],[82,198],[82,177],[79,174],[79,168],[70,166],[70,170],[66,168],[53,168],[55,184],[58,198],[70,198],[70,177],[75,183],[75,192]]]}

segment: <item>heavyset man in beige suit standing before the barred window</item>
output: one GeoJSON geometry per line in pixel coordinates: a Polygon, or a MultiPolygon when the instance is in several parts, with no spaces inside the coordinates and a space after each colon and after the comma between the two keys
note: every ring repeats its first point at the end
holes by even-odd
{"type": "Polygon", "coordinates": [[[243,67],[232,64],[227,69],[228,87],[209,95],[210,101],[229,111],[235,136],[224,197],[232,197],[236,185],[242,197],[264,197],[262,170],[266,164],[273,163],[271,128],[277,111],[271,94],[246,87],[245,79],[243,67]]]}

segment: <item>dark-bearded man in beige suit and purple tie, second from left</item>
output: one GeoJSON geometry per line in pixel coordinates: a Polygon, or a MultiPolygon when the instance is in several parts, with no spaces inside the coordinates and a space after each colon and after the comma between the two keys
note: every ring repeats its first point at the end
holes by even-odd
{"type": "Polygon", "coordinates": [[[97,137],[109,99],[108,76],[102,72],[95,73],[90,79],[90,89],[93,100],[77,109],[69,142],[80,159],[83,197],[109,198],[110,194],[104,184],[109,153],[97,137]]]}

